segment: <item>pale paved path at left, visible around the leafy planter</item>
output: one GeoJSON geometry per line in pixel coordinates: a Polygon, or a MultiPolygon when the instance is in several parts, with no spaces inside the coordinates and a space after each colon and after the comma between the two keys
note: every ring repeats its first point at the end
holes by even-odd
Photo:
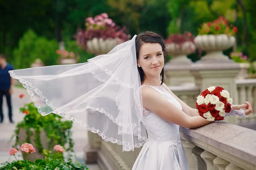
{"type": "MultiPolygon", "coordinates": [[[[23,119],[23,114],[19,112],[19,108],[24,104],[31,102],[30,96],[27,94],[25,88],[15,88],[12,95],[12,108],[13,108],[13,121],[14,124],[9,123],[8,109],[6,105],[6,99],[3,101],[4,122],[0,124],[0,163],[5,161],[15,160],[14,156],[9,156],[9,150],[12,148],[15,139],[9,141],[14,134],[15,126],[17,122],[23,119]],[[24,98],[20,99],[19,95],[24,94],[24,98]]],[[[39,114],[39,113],[38,113],[39,114]]],[[[83,116],[83,118],[86,116],[83,116]]],[[[84,120],[86,121],[86,120],[84,120]]],[[[73,141],[75,143],[74,150],[76,154],[76,160],[81,164],[84,164],[84,147],[87,147],[87,130],[77,124],[73,124],[73,141]]],[[[17,154],[18,159],[22,159],[21,153],[17,154]]],[[[100,170],[96,164],[87,165],[89,170],[100,170]]]]}

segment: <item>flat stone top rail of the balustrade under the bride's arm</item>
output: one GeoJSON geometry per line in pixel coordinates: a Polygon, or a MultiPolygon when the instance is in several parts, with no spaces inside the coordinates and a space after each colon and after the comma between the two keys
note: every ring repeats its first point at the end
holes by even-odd
{"type": "Polygon", "coordinates": [[[256,131],[226,122],[214,122],[190,130],[180,127],[186,140],[203,149],[212,147],[256,166],[256,131]]]}

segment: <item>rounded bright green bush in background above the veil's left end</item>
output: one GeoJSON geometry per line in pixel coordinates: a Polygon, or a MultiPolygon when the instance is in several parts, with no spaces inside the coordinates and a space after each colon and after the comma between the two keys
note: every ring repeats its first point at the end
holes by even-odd
{"type": "Polygon", "coordinates": [[[58,49],[56,40],[47,40],[28,30],[20,38],[18,47],[13,52],[15,56],[13,65],[15,69],[29,68],[37,58],[40,58],[46,66],[55,65],[58,60],[56,49],[58,49]]]}

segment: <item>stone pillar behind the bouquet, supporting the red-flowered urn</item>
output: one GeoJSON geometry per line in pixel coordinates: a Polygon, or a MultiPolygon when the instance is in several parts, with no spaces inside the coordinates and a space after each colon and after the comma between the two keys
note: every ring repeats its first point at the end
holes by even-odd
{"type": "MultiPolygon", "coordinates": [[[[238,104],[236,76],[240,72],[240,66],[234,61],[221,57],[218,59],[204,58],[192,64],[191,73],[195,77],[195,84],[204,91],[210,86],[221,86],[230,93],[233,104],[238,104]]],[[[236,116],[228,116],[226,122],[236,124],[236,116]]]]}

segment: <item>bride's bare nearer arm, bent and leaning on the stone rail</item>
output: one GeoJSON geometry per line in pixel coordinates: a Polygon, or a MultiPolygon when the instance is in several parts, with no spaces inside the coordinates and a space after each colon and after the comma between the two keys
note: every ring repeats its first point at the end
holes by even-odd
{"type": "Polygon", "coordinates": [[[166,121],[194,129],[212,123],[201,116],[191,117],[148,86],[142,88],[143,107],[151,110],[166,121]]]}

